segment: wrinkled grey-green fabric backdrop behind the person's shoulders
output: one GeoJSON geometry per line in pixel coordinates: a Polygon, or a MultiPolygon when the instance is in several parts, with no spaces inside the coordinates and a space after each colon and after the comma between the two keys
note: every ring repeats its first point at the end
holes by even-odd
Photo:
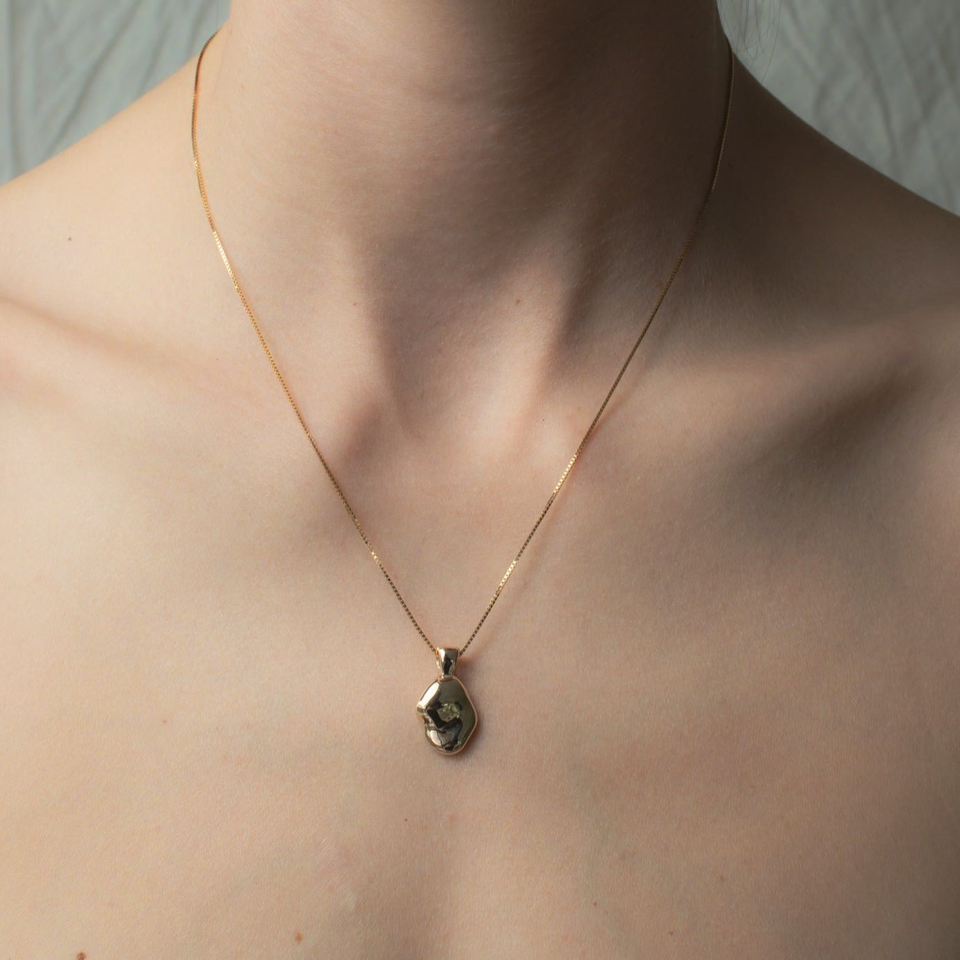
{"type": "MultiPolygon", "coordinates": [[[[740,59],[780,100],[960,213],[960,0],[720,3],[740,59]]],[[[0,182],[169,76],[228,12],[228,0],[0,0],[0,182]]]]}

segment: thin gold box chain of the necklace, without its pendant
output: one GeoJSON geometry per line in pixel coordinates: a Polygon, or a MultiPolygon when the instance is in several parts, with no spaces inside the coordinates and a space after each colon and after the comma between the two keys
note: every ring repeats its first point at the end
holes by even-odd
{"type": "MultiPolygon", "coordinates": [[[[237,294],[240,297],[240,301],[243,303],[244,309],[247,311],[247,316],[250,317],[250,322],[253,325],[253,329],[256,331],[257,339],[260,341],[260,346],[263,348],[263,352],[267,355],[267,359],[270,361],[270,366],[273,368],[273,371],[276,373],[276,379],[279,380],[280,386],[283,388],[283,393],[286,395],[287,399],[290,401],[290,406],[293,407],[294,413],[297,415],[297,420],[300,420],[300,426],[303,428],[303,432],[306,434],[307,440],[310,441],[310,445],[313,447],[317,456],[320,458],[321,464],[324,466],[324,471],[330,479],[330,483],[333,484],[333,489],[337,492],[337,495],[340,497],[341,503],[347,510],[347,513],[350,519],[353,521],[353,525],[357,528],[357,532],[360,534],[364,543],[367,545],[367,549],[370,551],[370,555],[373,558],[373,562],[380,568],[380,572],[384,575],[387,580],[387,583],[390,584],[390,588],[394,591],[396,599],[400,602],[400,606],[403,608],[403,611],[407,614],[410,619],[410,622],[414,625],[417,630],[417,633],[420,634],[420,637],[423,639],[423,642],[433,651],[434,657],[439,657],[438,649],[430,642],[430,639],[423,632],[423,629],[420,627],[420,624],[417,622],[417,617],[414,616],[410,608],[407,606],[407,602],[403,599],[400,591],[396,588],[394,583],[394,578],[391,577],[390,573],[387,571],[387,568],[383,565],[383,562],[377,556],[376,551],[373,549],[373,545],[370,541],[370,538],[367,536],[366,531],[360,524],[360,520],[357,518],[357,515],[353,512],[353,508],[349,505],[347,496],[343,492],[340,484],[337,482],[336,477],[333,475],[333,471],[330,469],[329,464],[327,464],[324,454],[320,452],[320,446],[317,444],[317,441],[314,440],[313,434],[310,432],[309,427],[307,427],[306,422],[303,420],[303,415],[300,413],[300,407],[297,406],[296,401],[294,400],[293,395],[290,393],[290,388],[287,386],[286,380],[283,379],[283,375],[280,373],[279,368],[276,366],[276,360],[274,359],[274,354],[271,352],[270,348],[267,346],[267,341],[263,336],[263,331],[260,329],[260,324],[256,322],[256,318],[253,316],[253,311],[250,307],[250,303],[247,301],[246,296],[244,295],[243,290],[240,288],[240,284],[237,282],[236,274],[233,272],[233,267],[230,264],[227,251],[224,250],[224,245],[220,239],[220,234],[217,232],[217,228],[213,223],[213,214],[210,212],[210,204],[206,196],[206,187],[204,186],[204,177],[200,170],[200,157],[197,153],[197,93],[200,86],[200,64],[204,59],[204,53],[206,48],[210,44],[210,40],[214,36],[217,36],[219,28],[213,32],[211,36],[204,43],[203,49],[200,51],[200,54],[197,57],[197,70],[194,76],[194,85],[193,85],[193,116],[191,120],[191,135],[193,141],[193,165],[194,169],[197,171],[197,184],[200,187],[200,196],[204,202],[204,211],[206,212],[206,219],[210,224],[210,229],[213,231],[213,239],[217,243],[217,249],[220,251],[220,255],[223,258],[224,264],[227,267],[227,272],[230,276],[230,279],[233,281],[233,286],[236,289],[237,294]]],[[[663,302],[663,299],[666,297],[667,291],[670,289],[670,285],[673,283],[673,278],[677,276],[677,272],[680,270],[681,264],[684,262],[684,257],[686,256],[687,251],[690,249],[693,239],[697,234],[698,229],[700,228],[701,221],[704,218],[704,214],[707,211],[707,205],[709,203],[710,197],[713,195],[713,188],[716,186],[717,178],[720,175],[720,161],[723,157],[723,148],[724,144],[727,141],[727,127],[730,120],[730,108],[733,96],[733,73],[735,58],[733,57],[733,49],[730,45],[730,41],[727,41],[727,49],[730,54],[730,80],[727,87],[727,106],[724,110],[724,119],[723,119],[723,132],[720,136],[720,147],[717,151],[716,162],[713,169],[713,177],[710,180],[710,186],[707,192],[707,198],[705,199],[703,205],[700,208],[700,212],[697,214],[697,219],[694,221],[693,228],[690,230],[689,236],[686,238],[684,243],[683,250],[680,253],[680,256],[677,259],[677,262],[674,264],[673,270],[670,272],[670,276],[667,278],[666,284],[664,285],[662,291],[660,292],[660,298],[654,304],[653,310],[650,312],[650,315],[647,317],[646,323],[643,324],[643,328],[640,330],[640,335],[636,338],[636,343],[631,349],[630,353],[627,354],[627,359],[624,361],[623,366],[620,368],[620,372],[616,374],[615,379],[613,380],[612,387],[607,392],[607,396],[604,397],[603,403],[600,404],[600,409],[596,412],[593,420],[590,421],[590,425],[587,428],[587,433],[584,434],[584,439],[580,442],[580,445],[577,447],[573,456],[570,457],[569,463],[564,467],[564,472],[561,473],[560,479],[557,481],[557,485],[553,488],[553,492],[550,494],[550,498],[546,501],[546,505],[540,511],[540,516],[537,517],[537,522],[533,525],[533,529],[527,534],[526,540],[523,541],[523,545],[516,552],[516,557],[511,561],[510,566],[507,567],[506,573],[500,578],[500,583],[497,584],[496,589],[493,591],[493,595],[490,598],[490,603],[487,604],[487,609],[483,612],[483,616],[480,617],[480,622],[473,628],[473,633],[470,634],[467,642],[464,644],[460,653],[463,654],[470,643],[473,641],[473,637],[480,632],[480,628],[484,625],[487,617],[490,615],[490,612],[493,609],[493,604],[496,603],[500,594],[503,592],[503,588],[506,587],[507,581],[510,579],[510,575],[514,572],[516,564],[519,563],[520,557],[523,556],[523,552],[526,550],[528,544],[534,538],[534,534],[537,533],[537,530],[540,528],[540,523],[543,522],[543,517],[547,515],[547,511],[550,507],[553,506],[553,501],[557,499],[557,494],[560,492],[561,487],[564,486],[564,481],[569,475],[570,470],[573,468],[573,465],[576,463],[577,458],[580,456],[584,447],[587,445],[590,435],[593,433],[593,428],[597,425],[597,421],[600,420],[603,416],[604,410],[607,409],[607,404],[610,402],[611,397],[613,396],[613,391],[616,390],[617,385],[620,380],[623,378],[623,374],[627,372],[627,367],[630,366],[630,361],[634,359],[634,354],[636,353],[637,348],[640,346],[640,341],[643,339],[643,335],[647,332],[650,324],[653,323],[654,317],[657,315],[657,311],[660,309],[660,304],[663,302]]]]}

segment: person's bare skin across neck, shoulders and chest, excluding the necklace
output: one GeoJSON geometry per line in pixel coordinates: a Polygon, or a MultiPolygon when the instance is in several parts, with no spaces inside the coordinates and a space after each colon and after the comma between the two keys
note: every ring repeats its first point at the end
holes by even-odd
{"type": "MultiPolygon", "coordinates": [[[[234,4],[233,73],[220,36],[204,60],[211,203],[374,544],[459,644],[692,223],[724,51],[707,5],[657,20],[605,54],[636,103],[551,112],[534,81],[586,36],[554,4],[506,105],[540,108],[524,143],[477,64],[540,5],[497,34],[523,5],[353,4],[359,46],[335,4],[286,6],[281,37],[234,4]],[[358,52],[377,23],[406,84],[358,52]],[[300,54],[353,99],[295,76],[303,36],[348,51],[300,54]],[[611,147],[628,108],[656,149],[611,147]],[[277,139],[276,110],[309,122],[277,139]],[[551,132],[580,192],[551,192],[551,132]]],[[[209,235],[192,83],[0,188],[0,955],[955,958],[960,221],[739,70],[708,219],[458,668],[481,726],[444,758],[430,653],[209,235]]]]}

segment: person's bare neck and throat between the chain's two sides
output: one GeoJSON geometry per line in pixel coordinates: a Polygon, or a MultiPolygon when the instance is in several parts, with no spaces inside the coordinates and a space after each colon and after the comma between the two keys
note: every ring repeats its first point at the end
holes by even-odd
{"type": "Polygon", "coordinates": [[[602,334],[615,372],[637,318],[612,304],[656,299],[727,78],[714,0],[233,0],[199,151],[274,336],[434,407],[520,369],[542,390],[602,334]]]}

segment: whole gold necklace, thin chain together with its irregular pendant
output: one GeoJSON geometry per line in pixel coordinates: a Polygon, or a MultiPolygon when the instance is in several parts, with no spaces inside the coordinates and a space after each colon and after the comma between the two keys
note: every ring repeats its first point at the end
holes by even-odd
{"type": "Polygon", "coordinates": [[[566,467],[564,467],[564,472],[560,475],[560,479],[557,481],[556,486],[553,488],[553,492],[551,492],[549,499],[546,501],[546,506],[544,506],[540,511],[540,516],[537,517],[537,522],[534,524],[533,529],[529,534],[527,534],[526,540],[523,541],[522,546],[516,552],[516,557],[514,557],[514,559],[511,561],[510,566],[507,567],[506,573],[504,573],[504,575],[500,578],[500,583],[497,584],[496,589],[493,591],[490,603],[487,604],[487,609],[483,612],[483,616],[480,617],[479,623],[477,623],[477,625],[473,628],[473,633],[470,634],[463,647],[458,649],[457,647],[436,647],[430,642],[429,637],[426,636],[420,627],[420,624],[417,622],[417,618],[407,606],[407,602],[403,599],[403,597],[400,595],[400,591],[396,588],[393,577],[391,577],[391,575],[387,572],[387,568],[377,556],[370,539],[367,537],[363,527],[360,525],[360,520],[357,519],[357,515],[353,512],[353,508],[349,505],[347,496],[343,492],[340,484],[337,483],[337,480],[333,475],[333,471],[330,469],[324,458],[324,454],[320,452],[319,445],[317,444],[316,440],[314,440],[313,434],[310,433],[306,422],[303,420],[303,416],[300,414],[300,407],[298,407],[297,403],[294,401],[293,395],[290,393],[290,388],[287,386],[286,380],[283,379],[279,368],[276,366],[274,355],[267,346],[267,341],[260,329],[260,324],[256,322],[256,318],[253,316],[250,303],[247,301],[243,290],[240,288],[240,284],[237,282],[236,274],[233,272],[233,267],[230,264],[227,251],[224,250],[224,245],[221,242],[220,234],[217,232],[217,228],[214,226],[213,215],[210,213],[210,204],[206,196],[204,177],[200,170],[200,157],[197,153],[197,92],[200,86],[201,61],[204,59],[204,53],[210,44],[210,40],[212,40],[214,36],[217,36],[218,32],[219,28],[207,39],[206,43],[204,43],[203,49],[200,51],[200,54],[197,57],[197,69],[193,83],[193,117],[191,121],[193,165],[197,172],[197,185],[200,187],[200,196],[204,202],[206,219],[210,224],[210,229],[213,231],[213,238],[217,243],[217,249],[220,251],[220,256],[223,258],[224,265],[227,267],[227,272],[230,276],[230,279],[233,281],[233,286],[240,297],[241,303],[243,303],[244,309],[247,311],[247,316],[250,317],[250,322],[253,325],[254,331],[256,332],[257,339],[260,341],[260,346],[263,348],[267,359],[270,361],[270,366],[276,373],[276,379],[279,380],[280,386],[283,388],[283,393],[290,401],[290,406],[293,407],[293,411],[297,415],[297,420],[300,420],[300,426],[303,428],[303,432],[306,434],[307,440],[310,441],[310,445],[313,447],[314,452],[320,458],[320,462],[324,467],[324,472],[326,473],[327,477],[329,477],[330,483],[333,484],[333,489],[340,497],[340,500],[347,510],[350,519],[353,521],[353,525],[357,528],[357,532],[360,534],[360,537],[366,544],[367,549],[370,551],[370,555],[372,556],[374,563],[380,568],[380,572],[386,578],[387,583],[390,584],[390,588],[394,591],[396,599],[400,602],[400,606],[407,614],[410,622],[414,625],[417,633],[420,634],[420,638],[424,643],[426,643],[430,650],[433,651],[433,655],[437,660],[439,673],[436,680],[434,680],[426,688],[426,690],[424,690],[423,695],[420,697],[420,701],[417,704],[417,712],[420,714],[420,718],[423,721],[423,732],[426,735],[427,742],[442,754],[455,754],[464,748],[464,746],[467,744],[470,734],[476,729],[477,726],[476,708],[474,708],[473,702],[470,700],[464,684],[461,683],[458,677],[453,675],[453,670],[457,665],[457,660],[467,650],[470,643],[473,642],[473,637],[479,633],[480,628],[484,625],[484,621],[487,619],[493,609],[493,604],[496,603],[500,593],[503,592],[503,588],[510,579],[510,575],[514,572],[516,564],[519,563],[520,557],[523,556],[523,552],[526,550],[527,545],[531,540],[533,540],[534,534],[537,533],[540,523],[543,521],[543,517],[546,516],[547,511],[551,506],[553,506],[553,501],[557,498],[557,494],[560,492],[561,487],[564,486],[564,481],[566,480],[571,468],[573,468],[577,458],[587,445],[590,435],[593,433],[593,428],[597,425],[597,421],[600,420],[604,410],[607,409],[607,404],[610,402],[610,399],[613,396],[613,391],[616,390],[616,387],[622,379],[623,374],[627,372],[627,367],[630,366],[630,361],[634,359],[634,354],[636,353],[637,348],[640,346],[640,341],[643,339],[643,335],[647,332],[647,329],[653,322],[657,311],[660,309],[660,303],[662,303],[663,299],[666,297],[666,293],[670,289],[670,285],[673,283],[673,278],[674,276],[677,276],[677,271],[680,270],[680,265],[684,262],[684,257],[693,243],[693,239],[697,234],[697,230],[700,228],[700,223],[703,220],[710,197],[713,195],[713,188],[716,186],[717,178],[720,174],[720,161],[723,157],[723,148],[727,140],[727,126],[730,120],[730,108],[733,97],[733,72],[736,62],[735,58],[733,57],[733,49],[730,45],[730,41],[728,40],[727,49],[730,54],[730,80],[727,87],[727,106],[724,109],[723,132],[720,136],[720,146],[717,150],[716,161],[714,163],[713,177],[710,180],[707,197],[700,208],[700,212],[697,214],[693,228],[690,230],[690,233],[686,238],[683,250],[681,251],[680,256],[677,258],[677,262],[674,264],[673,270],[670,272],[670,276],[667,278],[662,291],[660,291],[659,299],[657,300],[656,304],[654,304],[654,308],[647,317],[646,323],[643,324],[643,328],[640,330],[640,335],[636,338],[636,343],[630,350],[630,353],[627,354],[627,359],[624,361],[620,371],[616,374],[612,387],[608,391],[607,396],[604,397],[603,403],[600,404],[600,409],[596,412],[593,420],[590,421],[590,425],[587,428],[587,433],[584,434],[584,439],[580,442],[580,445],[575,450],[573,456],[570,457],[566,467]]]}

